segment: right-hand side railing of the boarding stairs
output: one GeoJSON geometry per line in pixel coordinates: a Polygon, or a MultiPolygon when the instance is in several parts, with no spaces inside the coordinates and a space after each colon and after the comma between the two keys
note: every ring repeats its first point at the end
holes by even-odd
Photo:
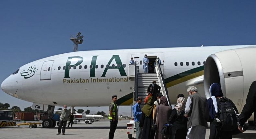
{"type": "Polygon", "coordinates": [[[169,96],[168,96],[168,90],[167,90],[165,80],[164,80],[164,76],[163,76],[163,73],[162,73],[162,70],[161,70],[161,67],[160,67],[158,61],[156,62],[156,69],[157,69],[157,74],[158,74],[157,76],[158,76],[158,79],[159,79],[159,84],[162,88],[162,92],[163,92],[163,94],[166,94],[168,104],[169,104],[169,106],[171,106],[169,96]]]}

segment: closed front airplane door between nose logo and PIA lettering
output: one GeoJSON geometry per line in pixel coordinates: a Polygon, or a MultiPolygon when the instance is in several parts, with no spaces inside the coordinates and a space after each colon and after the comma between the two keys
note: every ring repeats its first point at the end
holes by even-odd
{"type": "Polygon", "coordinates": [[[40,74],[40,80],[51,80],[53,62],[54,60],[43,62],[43,66],[40,74]]]}

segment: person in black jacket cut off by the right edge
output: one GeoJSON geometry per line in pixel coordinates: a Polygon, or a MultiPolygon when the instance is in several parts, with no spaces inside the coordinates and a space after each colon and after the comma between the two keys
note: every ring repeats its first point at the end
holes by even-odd
{"type": "MultiPolygon", "coordinates": [[[[246,98],[246,103],[244,105],[244,108],[239,116],[238,120],[238,129],[242,131],[242,127],[244,123],[250,118],[253,112],[256,111],[256,81],[253,81],[251,83],[247,98],[246,98]]],[[[254,113],[255,114],[255,113],[254,113]]]]}

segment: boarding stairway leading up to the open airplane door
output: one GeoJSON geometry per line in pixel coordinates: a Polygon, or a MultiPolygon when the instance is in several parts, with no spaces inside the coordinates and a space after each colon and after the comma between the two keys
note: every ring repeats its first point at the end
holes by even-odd
{"type": "MultiPolygon", "coordinates": [[[[152,84],[152,81],[157,81],[157,85],[161,87],[160,93],[163,94],[168,100],[168,104],[170,105],[169,96],[167,87],[165,84],[165,80],[163,77],[163,65],[160,65],[158,62],[155,67],[156,73],[140,73],[139,67],[135,66],[136,63],[130,66],[133,66],[134,70],[129,70],[129,79],[134,80],[134,104],[137,101],[138,97],[143,98],[142,104],[140,104],[141,108],[145,105],[145,98],[147,97],[147,88],[150,84],[152,84]],[[130,73],[132,72],[132,73],[130,73]],[[130,76],[131,75],[131,76],[130,76]]],[[[130,69],[130,68],[129,68],[130,69]]]]}

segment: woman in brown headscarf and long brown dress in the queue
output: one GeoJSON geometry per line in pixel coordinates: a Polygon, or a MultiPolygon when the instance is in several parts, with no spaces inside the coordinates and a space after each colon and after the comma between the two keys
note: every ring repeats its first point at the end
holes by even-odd
{"type": "Polygon", "coordinates": [[[162,96],[154,114],[154,123],[157,124],[155,139],[164,139],[164,136],[160,132],[164,127],[165,123],[168,122],[171,111],[172,108],[168,105],[167,98],[165,96],[162,96]]]}

